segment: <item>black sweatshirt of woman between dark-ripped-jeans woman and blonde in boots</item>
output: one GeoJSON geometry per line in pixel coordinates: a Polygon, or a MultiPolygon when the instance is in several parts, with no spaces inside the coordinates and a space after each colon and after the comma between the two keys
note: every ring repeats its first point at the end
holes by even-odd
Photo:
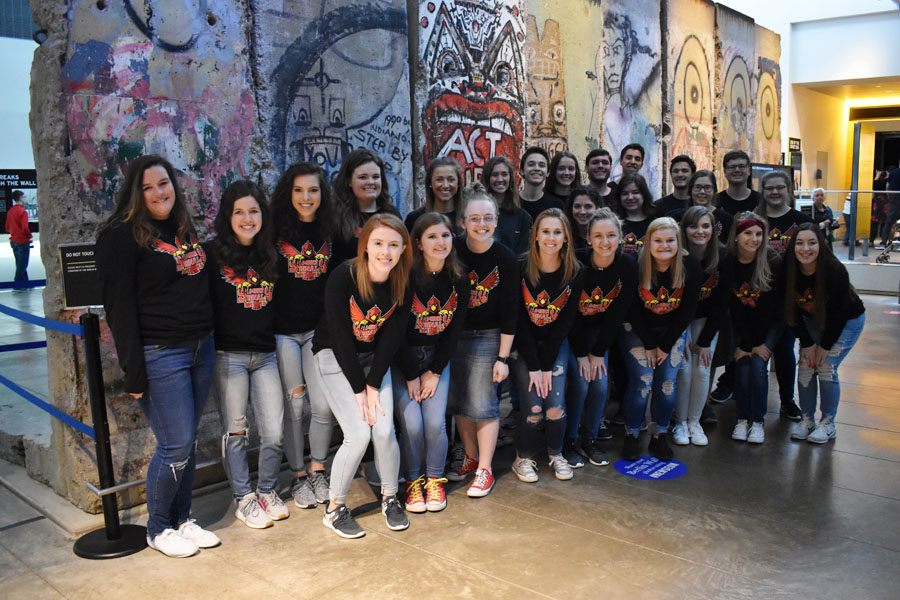
{"type": "Polygon", "coordinates": [[[582,292],[578,300],[575,325],[569,334],[569,347],[575,356],[603,356],[612,345],[619,325],[637,296],[637,263],[616,252],[605,269],[591,263],[590,248],[578,252],[582,269],[582,292]]]}

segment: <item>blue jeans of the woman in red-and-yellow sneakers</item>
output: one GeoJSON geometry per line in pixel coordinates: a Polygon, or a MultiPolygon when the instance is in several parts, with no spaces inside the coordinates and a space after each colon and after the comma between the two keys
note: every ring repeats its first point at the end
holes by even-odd
{"type": "MultiPolygon", "coordinates": [[[[428,364],[434,346],[410,348],[421,369],[428,364]]],[[[447,393],[450,389],[450,367],[440,373],[434,395],[422,402],[409,397],[406,377],[400,369],[391,369],[394,388],[394,411],[400,431],[400,455],[406,480],[415,481],[422,474],[423,459],[427,477],[443,477],[447,461],[447,393]]]]}

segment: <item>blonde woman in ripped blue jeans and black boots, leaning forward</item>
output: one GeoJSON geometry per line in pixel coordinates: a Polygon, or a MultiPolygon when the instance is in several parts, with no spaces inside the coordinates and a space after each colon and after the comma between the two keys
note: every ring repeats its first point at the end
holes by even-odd
{"type": "Polygon", "coordinates": [[[638,436],[648,399],[656,423],[650,454],[659,460],[672,459],[666,431],[675,407],[675,378],[700,295],[700,264],[682,248],[679,237],[674,220],[655,219],[647,228],[647,242],[638,259],[637,301],[622,331],[628,369],[622,450],[625,460],[640,458],[638,436]]]}

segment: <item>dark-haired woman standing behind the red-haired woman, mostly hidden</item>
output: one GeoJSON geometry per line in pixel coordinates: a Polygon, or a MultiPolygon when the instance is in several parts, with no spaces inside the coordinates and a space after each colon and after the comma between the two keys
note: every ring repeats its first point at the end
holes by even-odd
{"type": "Polygon", "coordinates": [[[366,221],[375,214],[400,212],[391,200],[384,161],[367,148],[357,148],[344,157],[334,179],[338,206],[337,235],[333,240],[337,262],[356,257],[357,241],[366,221]]]}

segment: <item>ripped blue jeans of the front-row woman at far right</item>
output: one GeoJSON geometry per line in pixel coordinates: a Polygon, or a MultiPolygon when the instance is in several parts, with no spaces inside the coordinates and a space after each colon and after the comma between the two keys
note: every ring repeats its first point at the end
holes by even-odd
{"type": "MultiPolygon", "coordinates": [[[[806,320],[805,316],[803,318],[806,320]]],[[[837,368],[854,344],[856,344],[865,322],[865,314],[847,321],[847,324],[844,325],[844,330],[841,331],[841,335],[838,336],[837,341],[831,347],[831,350],[828,351],[825,364],[818,369],[810,369],[804,361],[800,361],[797,370],[797,387],[800,395],[800,410],[804,416],[815,420],[817,387],[818,395],[821,399],[820,409],[822,410],[822,417],[831,417],[833,419],[837,414],[837,405],[841,399],[841,384],[838,379],[837,368]]],[[[807,326],[809,325],[811,325],[811,322],[807,320],[807,326]]],[[[818,331],[811,331],[811,335],[816,342],[822,337],[821,332],[818,331]]]]}

